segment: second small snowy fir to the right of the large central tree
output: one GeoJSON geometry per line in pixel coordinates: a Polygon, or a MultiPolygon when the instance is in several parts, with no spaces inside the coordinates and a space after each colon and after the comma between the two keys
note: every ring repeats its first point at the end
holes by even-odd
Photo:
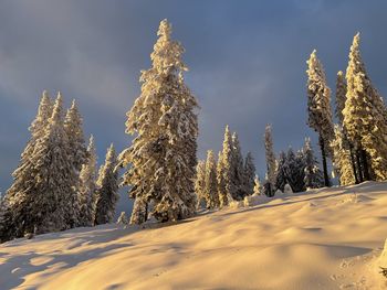
{"type": "Polygon", "coordinates": [[[220,205],[217,186],[217,162],[213,151],[207,151],[206,175],[205,175],[205,198],[207,208],[217,208],[220,205]]]}

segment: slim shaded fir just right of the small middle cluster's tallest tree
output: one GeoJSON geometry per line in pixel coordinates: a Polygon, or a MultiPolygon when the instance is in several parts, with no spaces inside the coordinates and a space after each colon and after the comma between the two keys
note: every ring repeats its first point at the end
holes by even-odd
{"type": "Polygon", "coordinates": [[[234,187],[233,200],[242,201],[245,193],[244,187],[244,169],[243,169],[243,157],[241,146],[237,132],[232,133],[232,153],[231,153],[231,165],[232,165],[232,183],[234,187]]]}

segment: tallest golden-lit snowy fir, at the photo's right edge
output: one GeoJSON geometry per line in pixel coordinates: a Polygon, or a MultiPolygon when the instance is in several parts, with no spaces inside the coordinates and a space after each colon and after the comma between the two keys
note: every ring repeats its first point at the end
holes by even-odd
{"type": "Polygon", "coordinates": [[[357,33],[349,52],[343,126],[360,157],[360,175],[364,180],[386,180],[386,107],[366,72],[359,52],[359,37],[357,33]]]}

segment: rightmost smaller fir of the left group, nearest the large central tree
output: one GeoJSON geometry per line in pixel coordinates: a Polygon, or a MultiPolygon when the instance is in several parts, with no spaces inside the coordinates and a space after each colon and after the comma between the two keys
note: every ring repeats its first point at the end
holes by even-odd
{"type": "Polygon", "coordinates": [[[95,225],[113,222],[118,202],[118,173],[115,170],[117,158],[113,144],[107,150],[105,164],[100,169],[95,201],[95,225]]]}

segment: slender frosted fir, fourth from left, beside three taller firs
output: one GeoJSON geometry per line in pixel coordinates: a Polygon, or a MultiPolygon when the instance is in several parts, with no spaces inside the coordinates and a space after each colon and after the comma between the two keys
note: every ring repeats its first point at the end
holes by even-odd
{"type": "Polygon", "coordinates": [[[97,178],[97,155],[94,144],[94,137],[90,137],[87,147],[87,160],[82,165],[80,173],[80,218],[81,226],[93,226],[94,224],[94,204],[97,178]]]}

